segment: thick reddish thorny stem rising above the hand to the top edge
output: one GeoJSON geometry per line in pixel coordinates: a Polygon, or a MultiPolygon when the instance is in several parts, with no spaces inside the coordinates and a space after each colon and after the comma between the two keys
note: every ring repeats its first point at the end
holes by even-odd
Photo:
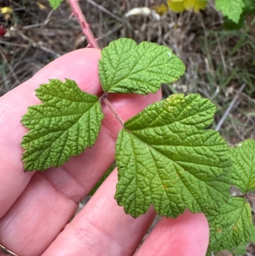
{"type": "Polygon", "coordinates": [[[75,15],[77,17],[78,22],[80,23],[80,27],[82,28],[82,32],[85,34],[87,41],[89,43],[89,46],[92,48],[100,49],[98,46],[98,43],[96,41],[96,38],[94,38],[91,29],[89,28],[89,24],[87,23],[82,10],[80,10],[80,6],[77,3],[77,0],[68,0],[73,13],[72,15],[75,15]]]}

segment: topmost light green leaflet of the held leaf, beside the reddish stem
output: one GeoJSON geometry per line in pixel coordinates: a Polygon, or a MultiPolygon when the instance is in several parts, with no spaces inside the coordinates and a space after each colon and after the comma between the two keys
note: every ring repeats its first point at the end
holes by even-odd
{"type": "Polygon", "coordinates": [[[156,93],[183,75],[185,66],[166,46],[120,38],[101,52],[99,77],[105,92],[156,93]]]}

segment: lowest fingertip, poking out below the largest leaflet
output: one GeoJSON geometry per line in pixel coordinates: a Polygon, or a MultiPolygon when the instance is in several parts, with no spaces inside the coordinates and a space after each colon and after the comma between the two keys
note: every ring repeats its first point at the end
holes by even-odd
{"type": "Polygon", "coordinates": [[[205,215],[186,210],[175,219],[162,218],[135,256],[205,256],[208,240],[205,215]]]}

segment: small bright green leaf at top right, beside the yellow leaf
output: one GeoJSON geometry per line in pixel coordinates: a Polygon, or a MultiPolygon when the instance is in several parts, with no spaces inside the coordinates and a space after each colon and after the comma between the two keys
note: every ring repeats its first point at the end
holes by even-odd
{"type": "Polygon", "coordinates": [[[217,11],[222,11],[224,16],[228,19],[233,20],[233,22],[238,23],[240,15],[242,14],[244,8],[243,0],[216,0],[215,9],[217,11]]]}

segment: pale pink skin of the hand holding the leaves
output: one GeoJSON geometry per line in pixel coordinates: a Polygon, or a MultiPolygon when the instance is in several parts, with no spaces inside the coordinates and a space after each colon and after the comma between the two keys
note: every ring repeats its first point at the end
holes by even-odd
{"type": "MultiPolygon", "coordinates": [[[[73,79],[87,93],[102,94],[96,49],[81,49],[56,59],[33,78],[0,98],[0,244],[19,256],[133,255],[156,213],[153,207],[138,218],[126,215],[114,199],[117,170],[73,218],[78,202],[89,193],[114,160],[121,128],[103,105],[105,119],[96,144],[58,169],[23,172],[20,147],[28,132],[20,123],[30,105],[39,104],[34,89],[48,79],[73,79]]],[[[110,95],[126,121],[161,93],[110,95]]],[[[135,256],[205,256],[208,223],[189,211],[176,219],[162,218],[135,256]]],[[[0,256],[4,253],[0,252],[0,256]]]]}

